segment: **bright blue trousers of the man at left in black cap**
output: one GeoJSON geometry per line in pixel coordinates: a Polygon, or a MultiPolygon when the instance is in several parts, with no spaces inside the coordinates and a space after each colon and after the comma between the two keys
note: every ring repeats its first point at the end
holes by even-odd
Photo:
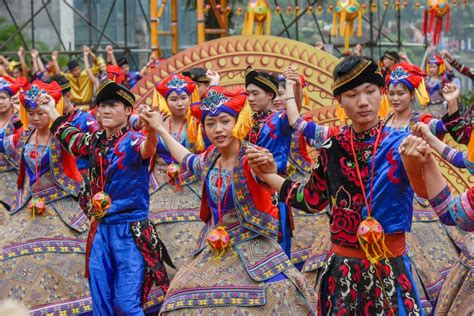
{"type": "Polygon", "coordinates": [[[89,272],[94,315],[144,315],[141,295],[145,261],[129,223],[99,224],[89,272]]]}

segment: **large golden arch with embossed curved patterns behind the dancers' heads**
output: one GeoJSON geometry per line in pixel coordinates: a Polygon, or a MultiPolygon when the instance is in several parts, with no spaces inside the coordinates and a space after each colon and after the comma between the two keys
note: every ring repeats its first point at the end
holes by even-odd
{"type": "MultiPolygon", "coordinates": [[[[244,84],[245,69],[282,73],[294,65],[305,76],[310,106],[305,111],[333,106],[332,70],[338,59],[308,44],[274,36],[230,36],[193,46],[165,60],[132,89],[137,104],[151,105],[153,88],[171,73],[194,67],[219,71],[221,84],[244,84]]],[[[335,114],[334,114],[334,117],[335,114]]],[[[336,118],[337,119],[337,118],[336,118]]]]}

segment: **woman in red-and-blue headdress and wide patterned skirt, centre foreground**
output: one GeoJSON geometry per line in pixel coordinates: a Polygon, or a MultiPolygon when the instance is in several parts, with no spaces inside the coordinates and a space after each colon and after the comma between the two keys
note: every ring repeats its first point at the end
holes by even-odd
{"type": "Polygon", "coordinates": [[[181,168],[204,181],[200,217],[206,226],[192,260],[171,282],[164,314],[300,315],[315,308],[308,281],[278,244],[272,191],[259,184],[245,158],[253,147],[241,141],[252,125],[246,100],[244,90],[213,86],[200,108],[193,108],[213,144],[200,155],[170,136],[158,113],[142,114],[181,168]]]}

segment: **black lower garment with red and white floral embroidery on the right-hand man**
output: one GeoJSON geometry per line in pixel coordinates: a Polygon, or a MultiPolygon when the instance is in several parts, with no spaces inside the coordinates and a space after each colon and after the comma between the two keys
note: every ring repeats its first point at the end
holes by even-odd
{"type": "Polygon", "coordinates": [[[397,315],[399,309],[421,314],[402,257],[372,265],[332,255],[322,273],[319,315],[397,315]]]}

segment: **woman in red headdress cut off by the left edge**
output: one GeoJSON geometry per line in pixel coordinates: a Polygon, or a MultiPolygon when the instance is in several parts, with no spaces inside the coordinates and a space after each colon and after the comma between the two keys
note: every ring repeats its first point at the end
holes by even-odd
{"type": "MultiPolygon", "coordinates": [[[[22,86],[23,82],[10,81],[10,78],[0,77],[0,142],[21,128],[20,118],[15,113],[14,99],[18,99],[18,92],[22,86]]],[[[6,203],[6,198],[16,192],[17,167],[16,161],[11,160],[8,155],[0,153],[0,177],[3,181],[3,185],[0,186],[1,203],[6,203]]]]}

